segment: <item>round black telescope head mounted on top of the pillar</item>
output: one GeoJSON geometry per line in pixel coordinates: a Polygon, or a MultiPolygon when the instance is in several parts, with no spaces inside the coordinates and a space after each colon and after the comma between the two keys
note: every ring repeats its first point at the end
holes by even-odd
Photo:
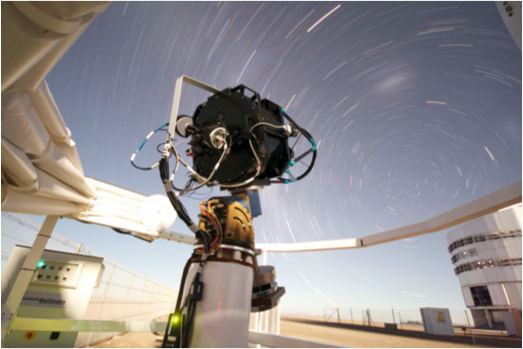
{"type": "Polygon", "coordinates": [[[217,146],[218,135],[218,139],[225,138],[229,153],[213,181],[221,185],[242,183],[255,176],[260,166],[256,179],[268,184],[269,179],[285,172],[293,156],[289,134],[281,126],[282,108],[268,99],[260,100],[259,94],[248,87],[239,85],[215,93],[196,108],[192,125],[186,128],[192,133],[189,144],[194,170],[204,178],[212,173],[223,152],[217,146]],[[249,91],[251,97],[246,95],[249,91]],[[261,122],[274,127],[254,127],[261,122]]]}

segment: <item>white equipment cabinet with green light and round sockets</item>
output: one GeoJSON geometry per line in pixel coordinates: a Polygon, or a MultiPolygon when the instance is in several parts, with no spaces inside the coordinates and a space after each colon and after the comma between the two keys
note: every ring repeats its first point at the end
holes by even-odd
{"type": "MultiPolygon", "coordinates": [[[[15,246],[2,272],[2,307],[29,254],[30,247],[15,246]]],[[[18,317],[78,319],[102,279],[103,258],[44,250],[27,287],[18,317]]],[[[13,330],[2,340],[4,348],[73,348],[78,332],[13,330]]]]}

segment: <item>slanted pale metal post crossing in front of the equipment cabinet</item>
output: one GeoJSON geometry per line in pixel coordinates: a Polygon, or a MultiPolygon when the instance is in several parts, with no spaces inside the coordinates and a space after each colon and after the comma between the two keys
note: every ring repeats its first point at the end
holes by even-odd
{"type": "Polygon", "coordinates": [[[29,286],[29,282],[31,282],[31,278],[36,271],[36,266],[42,257],[45,246],[47,245],[49,238],[51,238],[51,234],[53,233],[53,229],[56,226],[56,222],[58,222],[58,218],[60,217],[47,216],[45,219],[44,224],[42,224],[42,227],[36,236],[35,242],[29,251],[29,254],[20,268],[20,272],[16,277],[13,288],[9,293],[9,297],[2,307],[2,328],[4,328],[6,333],[5,337],[7,337],[13,330],[13,321],[17,317],[18,308],[20,307],[22,298],[24,297],[25,291],[29,286]]]}

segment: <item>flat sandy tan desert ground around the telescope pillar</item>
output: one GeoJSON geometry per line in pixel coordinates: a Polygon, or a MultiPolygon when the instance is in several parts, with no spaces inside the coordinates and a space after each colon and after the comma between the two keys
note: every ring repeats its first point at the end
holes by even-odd
{"type": "MultiPolygon", "coordinates": [[[[160,318],[158,321],[167,321],[160,318]]],[[[423,327],[409,326],[403,330],[386,330],[383,324],[376,327],[357,324],[323,322],[323,319],[282,315],[280,334],[318,342],[338,344],[353,348],[521,348],[521,338],[507,337],[506,332],[474,331],[476,345],[470,333],[464,336],[455,329],[456,336],[436,336],[423,332],[423,327]]],[[[153,333],[126,333],[110,340],[87,347],[87,349],[148,349],[160,348],[163,338],[153,333]]]]}

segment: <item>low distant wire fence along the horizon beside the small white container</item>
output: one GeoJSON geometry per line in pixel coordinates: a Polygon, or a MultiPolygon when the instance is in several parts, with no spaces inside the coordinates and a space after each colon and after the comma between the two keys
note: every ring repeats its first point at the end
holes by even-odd
{"type": "MultiPolygon", "coordinates": [[[[468,309],[449,309],[452,325],[455,327],[468,327],[466,315],[467,312],[470,321],[473,321],[472,315],[468,309]]],[[[341,322],[354,325],[365,325],[383,327],[384,323],[396,323],[401,329],[402,325],[408,329],[415,329],[419,326],[423,331],[423,322],[419,309],[337,309],[324,308],[324,321],[341,322]]],[[[473,323],[471,323],[474,326],[473,323]]]]}

